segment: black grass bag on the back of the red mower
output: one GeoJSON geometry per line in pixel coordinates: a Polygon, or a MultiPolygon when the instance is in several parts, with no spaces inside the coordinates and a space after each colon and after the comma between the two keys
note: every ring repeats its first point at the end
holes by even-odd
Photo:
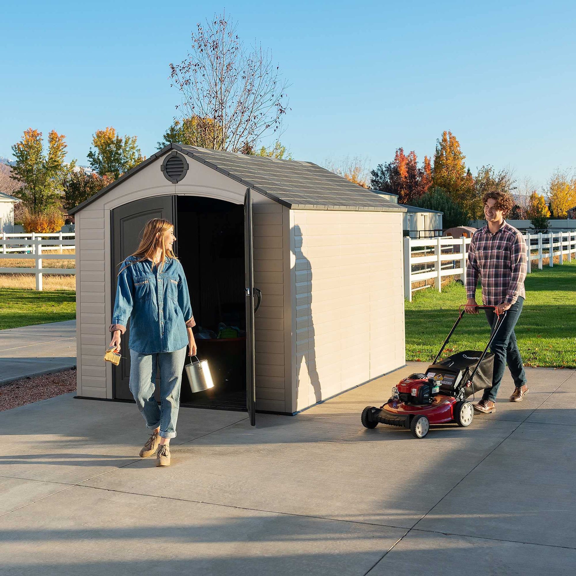
{"type": "Polygon", "coordinates": [[[473,393],[492,386],[492,372],[494,370],[494,354],[487,352],[470,381],[472,370],[478,363],[482,352],[465,350],[458,352],[441,362],[431,364],[426,370],[425,378],[433,378],[439,385],[439,393],[446,396],[472,396],[473,393]],[[461,391],[460,395],[458,391],[461,391]]]}

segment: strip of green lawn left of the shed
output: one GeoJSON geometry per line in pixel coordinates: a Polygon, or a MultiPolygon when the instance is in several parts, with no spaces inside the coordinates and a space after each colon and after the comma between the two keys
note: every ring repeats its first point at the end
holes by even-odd
{"type": "Polygon", "coordinates": [[[71,290],[0,290],[0,330],[74,320],[76,293],[71,290]]]}

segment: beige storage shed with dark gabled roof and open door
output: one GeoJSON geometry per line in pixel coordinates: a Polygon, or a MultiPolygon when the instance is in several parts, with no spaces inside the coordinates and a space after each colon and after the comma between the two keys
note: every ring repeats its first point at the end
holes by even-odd
{"type": "Polygon", "coordinates": [[[253,423],[403,366],[405,211],[312,162],[164,147],[70,211],[78,396],[131,399],[129,360],[102,357],[119,264],[155,217],[175,225],[217,381],[192,395],[183,380],[182,406],[248,409],[253,423]]]}

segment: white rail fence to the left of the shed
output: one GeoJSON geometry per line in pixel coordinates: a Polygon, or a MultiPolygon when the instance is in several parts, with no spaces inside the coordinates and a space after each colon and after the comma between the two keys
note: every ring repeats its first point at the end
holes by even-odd
{"type": "Polygon", "coordinates": [[[0,237],[0,264],[2,259],[35,260],[33,268],[0,267],[0,274],[35,274],[36,290],[42,290],[43,274],[76,274],[75,268],[43,268],[42,260],[75,260],[76,255],[62,253],[74,249],[74,232],[9,234],[0,237]]]}

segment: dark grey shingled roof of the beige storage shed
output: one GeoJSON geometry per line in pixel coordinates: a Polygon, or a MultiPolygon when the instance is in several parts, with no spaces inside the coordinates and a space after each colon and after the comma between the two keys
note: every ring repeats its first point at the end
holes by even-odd
{"type": "Polygon", "coordinates": [[[373,191],[365,190],[313,162],[276,160],[263,156],[169,144],[135,168],[128,170],[92,198],[69,210],[69,214],[74,214],[94,202],[169,150],[177,150],[293,210],[406,211],[404,207],[381,198],[373,191]]]}

